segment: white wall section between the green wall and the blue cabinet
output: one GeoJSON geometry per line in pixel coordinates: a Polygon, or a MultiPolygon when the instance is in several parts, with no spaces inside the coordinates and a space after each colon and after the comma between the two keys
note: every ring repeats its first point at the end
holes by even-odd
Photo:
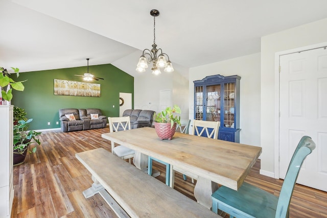
{"type": "Polygon", "coordinates": [[[151,74],[150,69],[147,69],[146,72],[134,77],[134,109],[160,112],[159,91],[167,89],[171,90],[173,105],[181,108],[181,118],[188,118],[189,82],[177,70],[172,73],[162,70],[160,75],[155,76],[151,74]]]}

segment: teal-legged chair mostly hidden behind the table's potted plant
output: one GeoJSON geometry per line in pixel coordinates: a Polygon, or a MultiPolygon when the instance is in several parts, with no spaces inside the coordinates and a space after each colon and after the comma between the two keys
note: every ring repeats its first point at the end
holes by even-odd
{"type": "MultiPolygon", "coordinates": [[[[189,134],[191,119],[181,119],[180,124],[181,125],[178,125],[176,127],[176,131],[179,131],[179,132],[184,133],[184,134],[189,134]]],[[[170,185],[170,180],[169,180],[169,178],[170,178],[170,164],[166,163],[164,161],[161,161],[161,160],[159,160],[157,158],[149,156],[148,157],[148,174],[149,175],[152,175],[152,161],[153,160],[166,165],[166,185],[169,186],[170,185]]],[[[183,175],[183,176],[184,176],[184,180],[186,180],[186,176],[185,175],[183,175]]]]}

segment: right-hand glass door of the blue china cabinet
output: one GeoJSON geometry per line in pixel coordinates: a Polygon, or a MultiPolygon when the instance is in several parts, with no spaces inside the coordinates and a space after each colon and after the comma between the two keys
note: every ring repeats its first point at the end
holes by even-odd
{"type": "Polygon", "coordinates": [[[235,83],[224,83],[224,126],[234,128],[235,83]]]}

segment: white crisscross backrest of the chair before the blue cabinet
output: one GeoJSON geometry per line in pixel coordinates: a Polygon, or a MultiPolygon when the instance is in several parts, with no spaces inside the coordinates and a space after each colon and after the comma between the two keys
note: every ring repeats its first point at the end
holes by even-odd
{"type": "Polygon", "coordinates": [[[218,139],[220,122],[197,120],[193,122],[192,135],[204,136],[204,133],[208,138],[218,139]]]}

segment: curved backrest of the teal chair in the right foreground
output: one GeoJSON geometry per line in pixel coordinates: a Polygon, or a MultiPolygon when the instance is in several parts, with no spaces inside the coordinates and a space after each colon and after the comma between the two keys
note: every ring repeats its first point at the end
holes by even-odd
{"type": "Polygon", "coordinates": [[[300,168],[303,161],[315,148],[316,144],[309,136],[303,136],[299,141],[287,169],[281,193],[279,194],[275,217],[289,217],[291,197],[300,168]]]}

